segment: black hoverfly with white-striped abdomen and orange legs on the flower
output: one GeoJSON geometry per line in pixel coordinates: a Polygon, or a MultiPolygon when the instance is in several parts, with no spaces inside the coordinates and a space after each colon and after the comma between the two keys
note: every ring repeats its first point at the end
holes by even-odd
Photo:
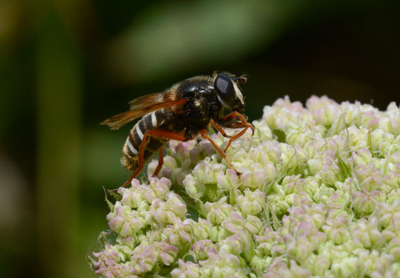
{"type": "Polygon", "coordinates": [[[124,124],[141,117],[129,131],[122,149],[122,165],[134,171],[122,185],[127,186],[141,170],[152,154],[159,152],[159,163],[154,176],[163,165],[163,145],[168,140],[188,141],[195,136],[207,138],[232,170],[240,174],[225,156],[232,141],[241,137],[253,125],[247,122],[244,111],[244,95],[240,84],[246,83],[246,75],[235,76],[228,72],[214,72],[211,76],[195,76],[151,95],[144,95],[129,102],[130,110],[120,113],[101,124],[119,129],[124,124]],[[224,108],[232,113],[224,116],[224,108]],[[209,126],[214,126],[225,138],[229,138],[223,151],[209,137],[209,126]],[[234,136],[225,133],[222,127],[242,129],[234,136]]]}

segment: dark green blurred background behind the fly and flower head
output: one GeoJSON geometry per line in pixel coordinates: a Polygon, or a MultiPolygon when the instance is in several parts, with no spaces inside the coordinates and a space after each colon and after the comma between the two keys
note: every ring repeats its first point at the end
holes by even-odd
{"type": "Polygon", "coordinates": [[[0,0],[0,277],[94,276],[133,126],[99,122],[135,97],[227,70],[250,120],[284,95],[399,104],[393,3],[0,0]]]}

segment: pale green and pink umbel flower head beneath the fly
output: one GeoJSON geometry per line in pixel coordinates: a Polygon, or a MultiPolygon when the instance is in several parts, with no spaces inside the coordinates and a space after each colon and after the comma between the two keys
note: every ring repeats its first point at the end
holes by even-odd
{"type": "Polygon", "coordinates": [[[399,107],[285,97],[253,124],[226,152],[241,177],[209,142],[171,141],[159,177],[120,188],[95,274],[400,277],[399,107]]]}

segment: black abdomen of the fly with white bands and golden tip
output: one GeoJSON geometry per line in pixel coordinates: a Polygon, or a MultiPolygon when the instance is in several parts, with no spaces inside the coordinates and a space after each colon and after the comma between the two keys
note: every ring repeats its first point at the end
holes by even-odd
{"type": "MultiPolygon", "coordinates": [[[[129,136],[125,142],[124,148],[122,149],[122,165],[128,170],[135,170],[138,167],[138,157],[140,148],[143,140],[145,139],[145,133],[150,129],[157,129],[165,122],[165,115],[163,109],[154,111],[144,115],[135,126],[129,131],[129,136]]],[[[144,154],[143,161],[147,161],[154,152],[163,146],[168,140],[163,138],[154,138],[147,136],[146,142],[144,142],[144,154]]]]}

